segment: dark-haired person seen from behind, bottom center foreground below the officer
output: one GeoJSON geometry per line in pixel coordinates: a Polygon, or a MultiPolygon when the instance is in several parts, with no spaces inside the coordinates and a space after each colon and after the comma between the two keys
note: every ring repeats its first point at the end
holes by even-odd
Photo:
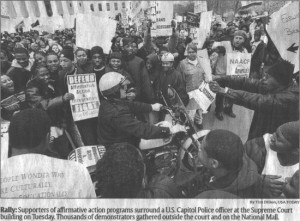
{"type": "Polygon", "coordinates": [[[137,148],[128,143],[114,144],[97,163],[97,195],[103,198],[182,197],[172,178],[163,174],[149,178],[145,171],[143,156],[137,148]]]}

